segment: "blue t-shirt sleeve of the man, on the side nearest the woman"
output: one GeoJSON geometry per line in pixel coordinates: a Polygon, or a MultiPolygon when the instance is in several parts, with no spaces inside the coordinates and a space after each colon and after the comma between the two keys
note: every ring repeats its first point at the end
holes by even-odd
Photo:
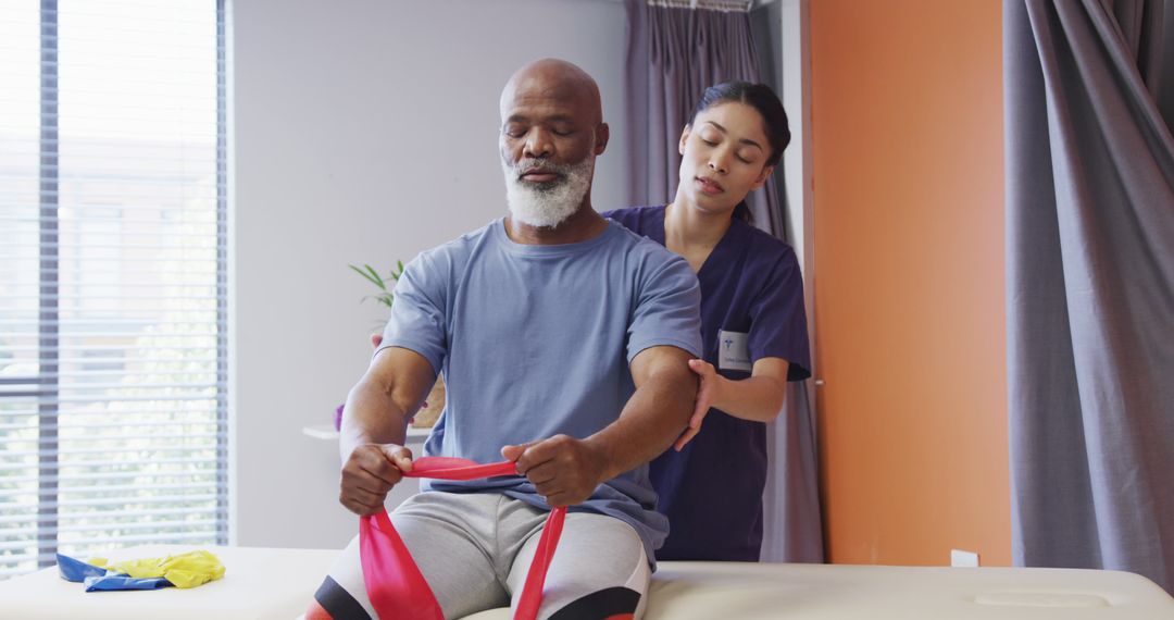
{"type": "Polygon", "coordinates": [[[639,283],[628,323],[628,363],[640,351],[661,345],[701,357],[701,285],[689,263],[675,255],[639,283]]]}

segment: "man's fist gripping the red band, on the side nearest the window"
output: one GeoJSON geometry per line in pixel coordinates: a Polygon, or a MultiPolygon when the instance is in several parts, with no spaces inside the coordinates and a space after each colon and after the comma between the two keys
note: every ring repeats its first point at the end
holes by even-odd
{"type": "Polygon", "coordinates": [[[409,471],[411,450],[394,444],[363,444],[343,465],[338,501],[356,514],[375,514],[383,510],[387,492],[404,477],[403,472],[409,471]]]}

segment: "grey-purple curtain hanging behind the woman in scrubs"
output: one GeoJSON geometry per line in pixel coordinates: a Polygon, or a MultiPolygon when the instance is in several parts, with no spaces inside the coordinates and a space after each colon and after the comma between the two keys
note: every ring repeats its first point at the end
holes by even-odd
{"type": "MultiPolygon", "coordinates": [[[[627,9],[629,200],[664,204],[676,193],[681,129],[701,93],[726,80],[763,80],[748,13],[652,7],[642,0],[628,0],[627,9]]],[[[785,240],[775,178],[747,204],[756,225],[785,240]]],[[[807,385],[788,384],[787,405],[768,434],[763,561],[823,561],[815,429],[807,385]]]]}

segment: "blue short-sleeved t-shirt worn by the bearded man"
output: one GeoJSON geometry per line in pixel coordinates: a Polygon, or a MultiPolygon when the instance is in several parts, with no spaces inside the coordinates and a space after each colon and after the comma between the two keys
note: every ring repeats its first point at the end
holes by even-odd
{"type": "MultiPolygon", "coordinates": [[[[444,371],[445,409],[424,453],[493,463],[501,446],[585,438],[619,418],[636,353],[672,345],[700,355],[700,304],[684,260],[615,222],[585,242],[526,245],[499,218],[407,265],[380,349],[410,349],[444,371]]],[[[421,487],[548,507],[521,477],[421,487]]],[[[668,533],[655,505],[642,465],[572,510],[632,524],[650,559],[668,533]]]]}

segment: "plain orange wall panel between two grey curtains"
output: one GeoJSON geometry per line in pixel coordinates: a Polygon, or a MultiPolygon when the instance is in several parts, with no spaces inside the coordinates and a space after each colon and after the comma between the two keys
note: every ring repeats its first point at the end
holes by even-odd
{"type": "Polygon", "coordinates": [[[1008,565],[1000,2],[810,6],[829,559],[1008,565]]]}

